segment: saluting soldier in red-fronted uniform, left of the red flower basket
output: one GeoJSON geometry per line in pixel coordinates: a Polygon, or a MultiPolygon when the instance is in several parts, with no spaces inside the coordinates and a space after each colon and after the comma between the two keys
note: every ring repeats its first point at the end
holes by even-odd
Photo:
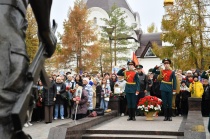
{"type": "Polygon", "coordinates": [[[125,68],[120,69],[117,74],[124,74],[124,78],[126,80],[125,85],[125,94],[127,99],[127,105],[128,105],[128,113],[129,118],[127,121],[133,120],[136,121],[135,118],[135,112],[136,112],[136,99],[137,95],[140,91],[140,81],[138,78],[138,74],[136,73],[135,69],[135,63],[134,61],[128,61],[128,70],[125,70],[125,68]]]}

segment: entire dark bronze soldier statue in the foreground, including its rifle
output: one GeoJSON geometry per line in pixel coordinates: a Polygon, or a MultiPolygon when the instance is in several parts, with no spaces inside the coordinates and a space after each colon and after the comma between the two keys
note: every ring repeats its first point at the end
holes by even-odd
{"type": "MultiPolygon", "coordinates": [[[[52,0],[0,0],[0,139],[28,139],[22,131],[33,83],[47,85],[44,59],[51,57],[56,37],[50,27],[52,0]],[[29,66],[25,46],[26,9],[30,3],[38,23],[40,47],[29,66]]],[[[55,22],[53,22],[56,28],[55,22]]]]}

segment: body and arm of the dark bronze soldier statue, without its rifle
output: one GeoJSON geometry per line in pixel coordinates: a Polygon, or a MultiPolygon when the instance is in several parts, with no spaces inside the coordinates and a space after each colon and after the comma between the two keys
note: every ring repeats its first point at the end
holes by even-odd
{"type": "Polygon", "coordinates": [[[38,23],[40,39],[46,44],[47,57],[52,56],[56,47],[57,40],[50,27],[52,0],[0,0],[0,139],[20,138],[14,132],[11,110],[27,81],[29,58],[25,46],[25,18],[29,3],[38,23]]]}

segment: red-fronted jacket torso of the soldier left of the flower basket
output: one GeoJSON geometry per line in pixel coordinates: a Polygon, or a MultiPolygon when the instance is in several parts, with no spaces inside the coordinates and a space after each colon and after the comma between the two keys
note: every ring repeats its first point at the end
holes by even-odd
{"type": "Polygon", "coordinates": [[[140,81],[138,74],[134,70],[124,71],[124,77],[126,80],[125,93],[140,92],[140,81]]]}

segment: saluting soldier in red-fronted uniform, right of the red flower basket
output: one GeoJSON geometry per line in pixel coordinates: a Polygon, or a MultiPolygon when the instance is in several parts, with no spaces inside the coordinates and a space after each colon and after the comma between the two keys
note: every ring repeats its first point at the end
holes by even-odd
{"type": "Polygon", "coordinates": [[[161,69],[159,73],[156,70],[159,68],[156,66],[153,72],[159,74],[158,79],[161,80],[160,90],[163,101],[164,109],[164,121],[172,121],[172,97],[176,93],[176,76],[175,72],[171,69],[171,60],[165,58],[162,60],[165,69],[161,69]]]}

